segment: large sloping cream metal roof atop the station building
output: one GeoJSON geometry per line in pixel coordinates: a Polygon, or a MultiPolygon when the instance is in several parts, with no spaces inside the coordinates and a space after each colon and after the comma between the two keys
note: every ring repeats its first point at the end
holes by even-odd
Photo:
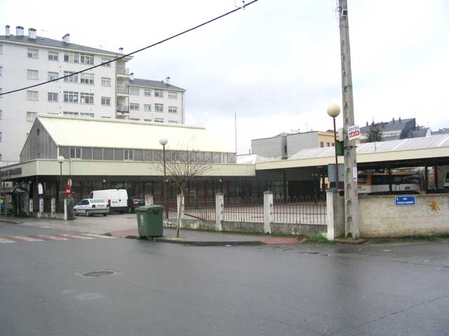
{"type": "Polygon", "coordinates": [[[161,149],[234,153],[233,146],[213,137],[203,127],[140,121],[76,118],[38,114],[43,127],[58,146],[161,149]]]}

